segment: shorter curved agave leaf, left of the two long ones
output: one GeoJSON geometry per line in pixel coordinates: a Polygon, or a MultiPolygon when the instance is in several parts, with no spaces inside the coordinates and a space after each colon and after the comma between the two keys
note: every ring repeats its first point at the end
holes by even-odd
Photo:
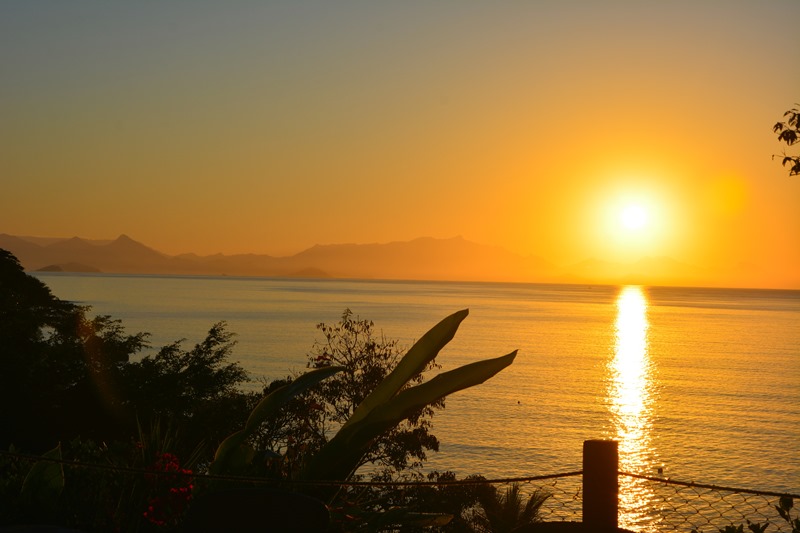
{"type": "Polygon", "coordinates": [[[250,413],[244,429],[230,434],[217,447],[214,461],[209,466],[212,474],[229,472],[232,468],[244,466],[252,458],[253,450],[245,442],[264,420],[278,411],[281,406],[294,396],[313,387],[344,369],[341,366],[328,366],[311,370],[297,377],[291,383],[279,387],[267,394],[250,413]]]}

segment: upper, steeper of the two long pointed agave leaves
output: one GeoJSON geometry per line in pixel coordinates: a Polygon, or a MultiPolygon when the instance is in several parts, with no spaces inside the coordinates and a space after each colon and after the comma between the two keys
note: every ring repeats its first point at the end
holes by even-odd
{"type": "Polygon", "coordinates": [[[394,370],[356,407],[342,429],[365,418],[370,411],[397,394],[397,391],[402,389],[408,380],[422,372],[441,349],[453,339],[458,326],[468,314],[469,309],[463,309],[445,317],[414,343],[414,346],[397,363],[394,370]]]}

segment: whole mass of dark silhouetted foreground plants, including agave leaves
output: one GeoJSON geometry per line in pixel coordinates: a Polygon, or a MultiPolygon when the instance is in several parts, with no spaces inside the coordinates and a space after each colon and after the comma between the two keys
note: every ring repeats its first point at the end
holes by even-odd
{"type": "Polygon", "coordinates": [[[433,417],[445,396],[515,355],[425,380],[466,311],[403,356],[346,310],[318,326],[309,371],[265,383],[263,394],[241,387],[249,378],[230,360],[222,322],[193,347],[178,340],[142,356],[146,333],[89,313],[0,250],[0,525],[504,531],[536,520],[547,497],[498,492],[480,476],[456,486],[341,484],[455,480],[420,471],[439,446],[433,417]]]}

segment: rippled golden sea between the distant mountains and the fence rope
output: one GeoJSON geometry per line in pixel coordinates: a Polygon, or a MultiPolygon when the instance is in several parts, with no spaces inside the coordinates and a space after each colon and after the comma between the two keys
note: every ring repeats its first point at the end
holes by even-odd
{"type": "Polygon", "coordinates": [[[129,333],[150,332],[153,350],[188,346],[226,321],[254,388],[303,371],[321,340],[316,325],[345,309],[410,346],[468,308],[438,358],[443,370],[519,353],[447,399],[430,468],[488,478],[571,472],[585,440],[613,438],[623,471],[800,492],[800,291],[36,276],[56,296],[122,319],[129,333]]]}

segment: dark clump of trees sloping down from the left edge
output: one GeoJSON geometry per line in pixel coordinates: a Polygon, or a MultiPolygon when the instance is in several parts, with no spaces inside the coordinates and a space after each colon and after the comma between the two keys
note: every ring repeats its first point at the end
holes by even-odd
{"type": "Polygon", "coordinates": [[[136,434],[137,420],[181,426],[186,451],[201,438],[216,445],[241,424],[255,396],[230,363],[234,346],[224,323],[184,350],[165,346],[140,361],[146,333],[129,335],[121,321],[90,318],[90,308],[55,297],[0,249],[0,448],[42,453],[78,436],[96,441],[136,434]]]}

